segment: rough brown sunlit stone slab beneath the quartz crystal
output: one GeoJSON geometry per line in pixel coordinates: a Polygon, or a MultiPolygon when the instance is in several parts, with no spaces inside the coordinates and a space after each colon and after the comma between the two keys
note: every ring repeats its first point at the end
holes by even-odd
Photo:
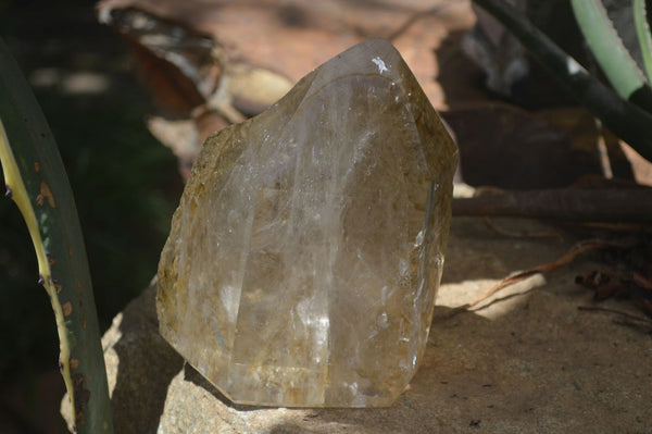
{"type": "MultiPolygon", "coordinates": [[[[528,233],[557,231],[494,222],[528,233]]],[[[498,294],[485,309],[450,315],[511,272],[561,257],[575,243],[563,235],[505,237],[481,219],[453,219],[424,362],[405,393],[384,409],[229,404],[161,338],[150,288],[103,338],[116,433],[652,432],[650,328],[577,310],[593,301],[574,278],[595,263],[580,258],[498,294]]],[[[624,302],[599,306],[641,315],[624,302]]]]}

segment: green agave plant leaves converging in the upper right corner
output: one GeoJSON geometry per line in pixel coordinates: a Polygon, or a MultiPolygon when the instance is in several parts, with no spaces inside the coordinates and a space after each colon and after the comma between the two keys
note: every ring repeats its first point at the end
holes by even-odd
{"type": "Polygon", "coordinates": [[[601,0],[572,0],[591,51],[613,88],[589,74],[504,0],[474,0],[505,26],[561,86],[614,134],[652,161],[652,41],[644,0],[634,0],[635,23],[648,78],[641,73],[610,21],[601,0]]]}

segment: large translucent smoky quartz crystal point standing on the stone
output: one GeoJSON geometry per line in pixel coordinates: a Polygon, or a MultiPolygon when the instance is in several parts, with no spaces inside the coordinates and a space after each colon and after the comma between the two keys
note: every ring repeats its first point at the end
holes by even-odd
{"type": "Polygon", "coordinates": [[[391,405],[426,347],[456,158],[389,42],[337,55],[204,144],[161,334],[234,402],[391,405]]]}

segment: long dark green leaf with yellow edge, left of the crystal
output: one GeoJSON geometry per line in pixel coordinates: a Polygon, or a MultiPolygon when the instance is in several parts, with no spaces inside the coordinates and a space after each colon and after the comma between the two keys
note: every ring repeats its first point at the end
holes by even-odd
{"type": "Polygon", "coordinates": [[[0,162],[29,230],[60,339],[60,370],[79,433],[112,433],[106,371],[77,210],[57,144],[0,39],[0,162]],[[11,145],[11,146],[10,146],[11,145]]]}

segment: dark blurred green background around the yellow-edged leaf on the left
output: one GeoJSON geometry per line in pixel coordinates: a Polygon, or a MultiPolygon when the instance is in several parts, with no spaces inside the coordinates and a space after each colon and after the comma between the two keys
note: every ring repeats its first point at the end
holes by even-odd
{"type": "MultiPolygon", "coordinates": [[[[156,272],[181,191],[148,132],[150,97],[95,2],[0,1],[0,36],[36,94],[75,195],[102,332],[156,272]]],[[[59,339],[15,204],[0,200],[0,433],[64,433],[59,339]]]]}

